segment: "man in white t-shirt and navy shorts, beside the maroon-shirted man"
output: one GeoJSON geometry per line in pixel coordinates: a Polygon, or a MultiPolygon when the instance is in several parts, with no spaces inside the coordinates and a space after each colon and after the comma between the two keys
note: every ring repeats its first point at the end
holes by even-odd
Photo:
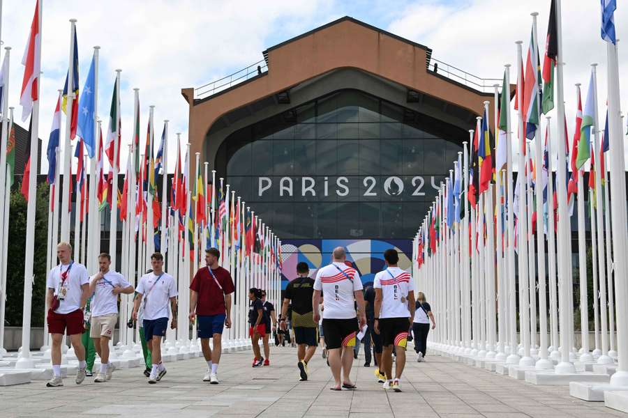
{"type": "Polygon", "coordinates": [[[151,352],[152,368],[149,383],[155,384],[165,376],[166,369],[161,362],[161,339],[168,326],[168,302],[172,311],[171,328],[177,327],[177,282],[174,277],[163,271],[163,255],[151,255],[153,272],[144,274],[137,283],[137,296],[133,304],[133,319],[137,320],[137,311],[142,305],[144,318],[144,336],[151,352]]]}

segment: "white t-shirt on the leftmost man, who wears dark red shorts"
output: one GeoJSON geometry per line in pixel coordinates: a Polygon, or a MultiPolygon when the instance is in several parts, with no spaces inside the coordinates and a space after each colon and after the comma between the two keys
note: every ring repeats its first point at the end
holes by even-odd
{"type": "Polygon", "coordinates": [[[69,272],[66,276],[66,280],[63,281],[63,287],[66,288],[66,297],[63,300],[59,300],[59,307],[54,311],[57,314],[69,314],[81,307],[81,286],[89,284],[89,276],[87,275],[87,268],[80,263],[70,263],[68,265],[57,265],[57,267],[50,270],[48,278],[46,279],[46,287],[54,290],[54,294],[59,294],[61,288],[61,274],[66,271],[69,272]]]}

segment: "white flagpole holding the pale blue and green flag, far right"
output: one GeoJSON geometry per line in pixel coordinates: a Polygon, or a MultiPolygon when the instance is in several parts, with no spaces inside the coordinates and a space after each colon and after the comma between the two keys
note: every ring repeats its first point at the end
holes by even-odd
{"type": "MultiPolygon", "coordinates": [[[[591,64],[592,82],[593,82],[593,129],[592,129],[592,149],[594,155],[599,150],[599,117],[597,114],[597,64],[591,64]]],[[[599,154],[597,154],[599,157],[599,154]]],[[[560,164],[559,164],[560,166],[560,164]]],[[[604,251],[604,195],[601,189],[601,164],[597,160],[595,167],[595,203],[597,210],[596,229],[597,229],[597,260],[598,260],[598,277],[599,277],[599,309],[600,309],[600,338],[601,338],[601,355],[597,358],[597,364],[613,364],[614,361],[608,356],[608,305],[606,304],[606,251],[604,251]]],[[[559,215],[560,219],[560,215],[559,215]]],[[[560,238],[559,238],[560,239],[560,238]]],[[[611,312],[613,315],[613,312],[611,312]]]]}

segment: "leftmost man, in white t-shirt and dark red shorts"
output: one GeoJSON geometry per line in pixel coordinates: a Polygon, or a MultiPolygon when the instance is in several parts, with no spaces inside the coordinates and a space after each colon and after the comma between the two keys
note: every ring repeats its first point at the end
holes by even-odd
{"type": "Polygon", "coordinates": [[[76,373],[76,384],[85,380],[85,348],[81,342],[84,331],[84,309],[89,292],[89,276],[87,269],[71,258],[72,247],[67,242],[57,245],[57,257],[60,264],[50,270],[46,279],[46,306],[48,307],[48,332],[52,334],[52,379],[47,387],[63,386],[61,380],[61,343],[63,333],[67,332],[79,360],[76,373]]]}

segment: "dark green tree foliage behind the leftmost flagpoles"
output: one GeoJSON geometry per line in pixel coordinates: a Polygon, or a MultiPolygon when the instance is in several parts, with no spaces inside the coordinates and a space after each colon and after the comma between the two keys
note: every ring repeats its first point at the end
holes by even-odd
{"type": "MultiPolygon", "coordinates": [[[[20,185],[15,185],[10,194],[8,265],[6,288],[6,325],[22,325],[24,307],[24,256],[26,254],[27,201],[20,193],[20,185]]],[[[31,304],[31,326],[43,327],[45,284],[46,284],[46,243],[48,233],[48,185],[37,187],[35,217],[35,257],[33,264],[33,301],[31,304]]]]}

